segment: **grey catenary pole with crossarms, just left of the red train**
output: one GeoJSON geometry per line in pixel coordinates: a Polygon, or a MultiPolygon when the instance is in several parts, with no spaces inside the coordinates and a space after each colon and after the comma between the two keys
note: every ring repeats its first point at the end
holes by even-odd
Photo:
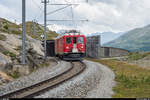
{"type": "Polygon", "coordinates": [[[47,21],[47,3],[48,3],[49,1],[47,1],[47,0],[44,0],[44,1],[42,1],[42,3],[44,3],[44,59],[46,60],[46,27],[47,27],[47,23],[46,23],[46,21],[47,21]]]}

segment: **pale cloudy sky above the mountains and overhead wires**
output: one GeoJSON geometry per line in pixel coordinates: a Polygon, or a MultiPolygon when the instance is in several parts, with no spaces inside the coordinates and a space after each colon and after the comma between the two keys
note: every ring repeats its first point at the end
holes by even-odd
{"type": "MultiPolygon", "coordinates": [[[[11,21],[21,22],[22,0],[0,0],[0,17],[11,21]]],[[[77,29],[84,33],[104,31],[124,32],[137,27],[150,24],[150,0],[50,0],[50,3],[79,2],[79,6],[73,6],[75,19],[89,19],[89,22],[76,22],[77,29]]],[[[43,4],[41,0],[26,0],[27,20],[38,20],[43,23],[43,4]]],[[[48,12],[60,8],[60,6],[48,6],[48,12]]],[[[48,19],[71,18],[71,7],[49,15],[48,19]]],[[[48,22],[49,23],[49,22],[48,22]]],[[[49,26],[54,30],[72,28],[72,23],[54,22],[49,26]]]]}

